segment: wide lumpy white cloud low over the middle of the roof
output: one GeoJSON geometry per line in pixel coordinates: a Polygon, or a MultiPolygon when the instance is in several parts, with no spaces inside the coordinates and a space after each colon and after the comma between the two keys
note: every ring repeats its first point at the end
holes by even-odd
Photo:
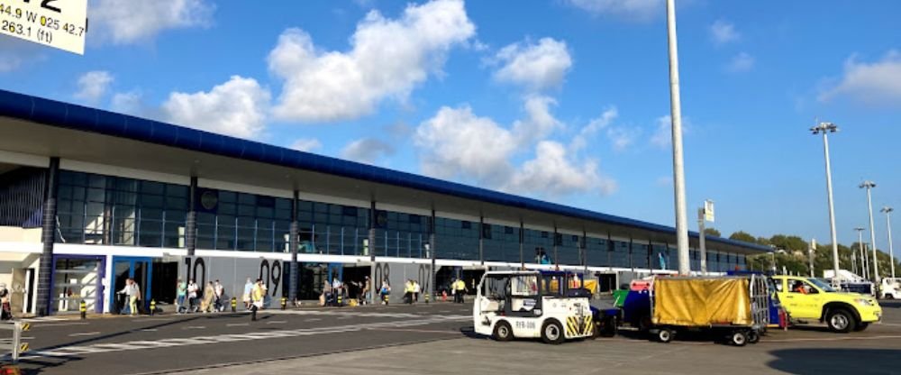
{"type": "Polygon", "coordinates": [[[560,142],[523,143],[515,129],[479,117],[468,106],[442,107],[416,132],[423,173],[538,196],[615,190],[615,181],[600,174],[596,160],[579,160],[560,142]],[[518,152],[531,154],[532,149],[531,159],[514,165],[518,152]]]}

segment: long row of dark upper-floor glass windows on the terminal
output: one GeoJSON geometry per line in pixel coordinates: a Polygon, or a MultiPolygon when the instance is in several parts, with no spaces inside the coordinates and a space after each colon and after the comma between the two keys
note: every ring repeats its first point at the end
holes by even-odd
{"type": "MultiPolygon", "coordinates": [[[[57,241],[141,247],[185,247],[190,188],[134,178],[62,170],[59,173],[57,241]]],[[[197,248],[240,252],[289,252],[292,199],[197,188],[197,248]]],[[[377,210],[376,241],[369,243],[370,210],[298,201],[299,252],[332,255],[429,258],[432,217],[377,210]]],[[[438,259],[678,270],[678,252],[662,244],[609,241],[502,224],[437,217],[438,259]],[[523,242],[521,260],[520,242],[523,242]],[[582,242],[585,242],[584,244],[582,242]],[[582,246],[586,247],[582,252],[582,246]]],[[[700,269],[691,250],[691,269],[700,269]]],[[[708,252],[711,271],[745,267],[739,254],[708,252]]]]}

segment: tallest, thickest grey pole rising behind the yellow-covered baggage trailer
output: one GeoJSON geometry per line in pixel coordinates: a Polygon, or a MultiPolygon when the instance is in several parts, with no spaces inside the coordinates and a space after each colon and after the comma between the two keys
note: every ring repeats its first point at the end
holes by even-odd
{"type": "Polygon", "coordinates": [[[672,119],[673,182],[676,201],[676,240],[678,273],[691,273],[688,259],[688,214],[685,203],[685,166],[682,157],[682,104],[678,90],[678,41],[676,40],[676,2],[667,0],[667,36],[669,40],[669,113],[672,119]]]}

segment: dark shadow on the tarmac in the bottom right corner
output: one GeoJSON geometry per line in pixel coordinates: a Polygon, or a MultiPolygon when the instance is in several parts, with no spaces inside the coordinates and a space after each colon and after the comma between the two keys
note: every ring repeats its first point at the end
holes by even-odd
{"type": "Polygon", "coordinates": [[[889,349],[782,349],[771,351],[773,370],[792,374],[890,374],[901,369],[901,351],[889,349]]]}

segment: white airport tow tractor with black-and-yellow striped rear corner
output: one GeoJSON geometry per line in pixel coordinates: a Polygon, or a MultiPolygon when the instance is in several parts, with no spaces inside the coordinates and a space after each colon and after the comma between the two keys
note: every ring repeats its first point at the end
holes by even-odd
{"type": "Polygon", "coordinates": [[[497,341],[541,338],[545,343],[595,336],[587,297],[567,297],[567,281],[539,271],[488,271],[472,308],[477,334],[497,341]]]}

